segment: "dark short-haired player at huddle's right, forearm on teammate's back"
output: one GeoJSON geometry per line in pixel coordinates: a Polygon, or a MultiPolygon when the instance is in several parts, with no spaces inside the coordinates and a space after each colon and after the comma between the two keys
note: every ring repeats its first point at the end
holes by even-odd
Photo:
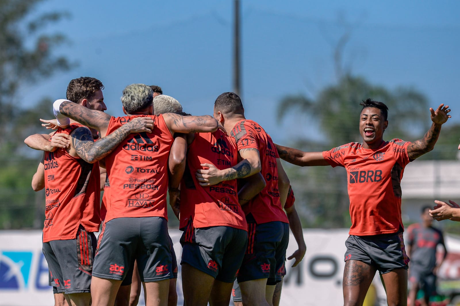
{"type": "Polygon", "coordinates": [[[244,116],[241,99],[233,92],[224,92],[214,103],[214,118],[230,130],[238,152],[247,165],[241,169],[218,170],[210,166],[200,171],[203,183],[214,185],[237,176],[251,176],[261,172],[266,186],[242,204],[248,223],[248,245],[238,283],[243,300],[248,305],[272,305],[276,283],[281,281],[277,271],[286,260],[289,226],[282,206],[286,202],[289,179],[282,169],[271,137],[256,122],[244,116]]]}

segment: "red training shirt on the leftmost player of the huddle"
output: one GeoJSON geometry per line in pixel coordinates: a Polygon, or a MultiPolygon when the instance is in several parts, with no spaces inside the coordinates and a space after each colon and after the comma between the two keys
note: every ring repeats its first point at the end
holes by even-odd
{"type": "MultiPolygon", "coordinates": [[[[71,124],[56,133],[70,135],[84,125],[71,124]]],[[[45,152],[45,223],[43,242],[75,239],[78,227],[97,232],[99,215],[99,163],[89,164],[65,148],[45,152]]]]}

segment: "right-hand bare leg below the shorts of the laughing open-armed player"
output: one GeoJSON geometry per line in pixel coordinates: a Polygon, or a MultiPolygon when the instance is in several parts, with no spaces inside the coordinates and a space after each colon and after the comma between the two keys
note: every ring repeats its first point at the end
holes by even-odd
{"type": "Polygon", "coordinates": [[[407,270],[400,268],[381,275],[388,306],[407,305],[407,270]]]}

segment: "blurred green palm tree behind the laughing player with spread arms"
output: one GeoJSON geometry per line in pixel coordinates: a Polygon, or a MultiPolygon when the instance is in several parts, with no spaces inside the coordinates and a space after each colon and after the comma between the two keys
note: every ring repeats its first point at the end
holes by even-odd
{"type": "MultiPolygon", "coordinates": [[[[278,105],[279,118],[290,112],[305,114],[308,122],[319,127],[322,140],[300,140],[291,145],[305,151],[329,150],[348,142],[362,142],[358,129],[362,109],[359,102],[368,97],[384,102],[389,108],[385,140],[419,139],[428,129],[430,113],[422,93],[403,87],[391,91],[349,73],[341,76],[337,84],[319,91],[315,98],[301,95],[283,98],[278,105]]],[[[292,165],[286,168],[302,207],[300,215],[304,226],[347,227],[351,224],[344,169],[292,165]]]]}

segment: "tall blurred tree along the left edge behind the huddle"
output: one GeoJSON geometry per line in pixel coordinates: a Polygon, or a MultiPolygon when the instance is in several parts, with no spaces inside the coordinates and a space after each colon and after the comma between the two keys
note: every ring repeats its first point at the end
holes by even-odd
{"type": "Polygon", "coordinates": [[[37,97],[35,106],[24,108],[18,93],[27,84],[71,68],[56,54],[65,42],[62,34],[43,32],[68,14],[47,12],[36,16],[43,0],[0,1],[0,228],[40,228],[43,218],[43,193],[30,186],[38,164],[31,159],[23,140],[42,130],[38,119],[50,118],[51,101],[37,97]]]}

